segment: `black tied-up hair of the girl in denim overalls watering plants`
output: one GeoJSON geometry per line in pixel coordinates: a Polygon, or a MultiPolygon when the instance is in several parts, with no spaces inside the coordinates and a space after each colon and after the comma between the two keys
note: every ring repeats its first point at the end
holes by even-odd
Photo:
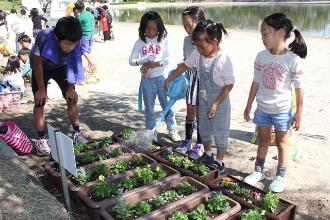
{"type": "Polygon", "coordinates": [[[220,43],[222,40],[222,34],[227,35],[227,31],[223,27],[223,24],[214,23],[212,20],[208,19],[206,21],[201,21],[196,25],[192,33],[192,40],[196,41],[206,37],[209,42],[217,39],[220,43]]]}

